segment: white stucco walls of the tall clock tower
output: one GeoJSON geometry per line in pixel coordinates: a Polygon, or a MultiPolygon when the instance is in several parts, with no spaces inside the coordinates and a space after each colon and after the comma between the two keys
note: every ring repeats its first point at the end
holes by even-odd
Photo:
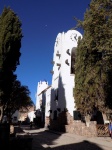
{"type": "MultiPolygon", "coordinates": [[[[71,74],[71,51],[72,48],[77,47],[78,37],[82,38],[82,35],[76,30],[69,30],[66,33],[59,33],[56,37],[54,44],[53,54],[53,76],[52,76],[52,110],[57,108],[67,108],[71,116],[73,116],[73,110],[75,107],[73,88],[75,75],[71,74]],[[70,55],[67,54],[69,49],[70,55]],[[60,57],[56,54],[59,53],[60,57]],[[69,65],[65,63],[68,60],[69,65]],[[57,66],[60,63],[60,67],[57,66]],[[55,91],[58,89],[58,102],[55,101],[55,91]]],[[[53,114],[52,114],[53,117],[53,114]]]]}

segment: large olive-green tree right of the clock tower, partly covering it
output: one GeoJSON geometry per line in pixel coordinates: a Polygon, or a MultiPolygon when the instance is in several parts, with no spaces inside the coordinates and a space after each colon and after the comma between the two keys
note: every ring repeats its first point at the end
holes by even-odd
{"type": "Polygon", "coordinates": [[[82,113],[96,107],[112,110],[112,1],[92,0],[83,21],[83,38],[77,47],[75,103],[82,113]]]}

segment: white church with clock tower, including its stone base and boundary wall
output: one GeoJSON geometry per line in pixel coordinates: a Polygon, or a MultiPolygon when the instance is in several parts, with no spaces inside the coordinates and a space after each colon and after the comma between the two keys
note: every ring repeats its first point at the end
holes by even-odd
{"type": "Polygon", "coordinates": [[[36,117],[40,126],[84,136],[98,136],[97,124],[104,123],[108,136],[108,118],[97,111],[97,120],[88,120],[75,107],[75,59],[78,39],[82,35],[72,29],[59,33],[54,44],[52,83],[38,82],[36,93],[36,117]],[[85,120],[84,120],[85,119],[85,120]]]}

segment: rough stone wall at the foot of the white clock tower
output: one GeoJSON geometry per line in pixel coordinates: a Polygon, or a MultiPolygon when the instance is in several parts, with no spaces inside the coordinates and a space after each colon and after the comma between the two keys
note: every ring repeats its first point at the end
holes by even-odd
{"type": "Polygon", "coordinates": [[[89,127],[87,127],[84,122],[73,120],[73,117],[68,111],[61,112],[57,120],[50,119],[50,129],[87,137],[97,136],[96,121],[91,121],[89,127]]]}

